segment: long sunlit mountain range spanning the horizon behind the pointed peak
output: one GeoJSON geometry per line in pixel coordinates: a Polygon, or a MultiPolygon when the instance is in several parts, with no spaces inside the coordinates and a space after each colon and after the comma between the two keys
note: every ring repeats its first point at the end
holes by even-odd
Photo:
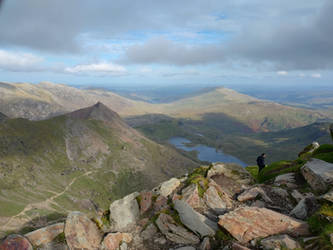
{"type": "Polygon", "coordinates": [[[101,101],[122,117],[163,114],[174,118],[203,119],[223,114],[251,130],[278,131],[325,121],[332,114],[260,100],[227,88],[205,89],[170,102],[135,101],[102,89],[77,89],[53,83],[1,83],[0,112],[10,117],[45,119],[101,101]]]}

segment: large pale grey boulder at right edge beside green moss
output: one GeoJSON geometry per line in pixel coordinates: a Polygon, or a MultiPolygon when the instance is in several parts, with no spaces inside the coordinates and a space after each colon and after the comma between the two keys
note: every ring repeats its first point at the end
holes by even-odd
{"type": "Polygon", "coordinates": [[[311,188],[324,193],[333,184],[333,164],[312,159],[301,168],[302,175],[311,188]]]}

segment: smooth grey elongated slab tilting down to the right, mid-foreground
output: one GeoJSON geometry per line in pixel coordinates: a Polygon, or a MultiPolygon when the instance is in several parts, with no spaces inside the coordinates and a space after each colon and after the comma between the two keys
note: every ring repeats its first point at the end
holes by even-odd
{"type": "Polygon", "coordinates": [[[202,214],[196,212],[191,206],[182,200],[174,201],[181,222],[192,232],[201,237],[214,236],[217,231],[217,224],[202,214]]]}

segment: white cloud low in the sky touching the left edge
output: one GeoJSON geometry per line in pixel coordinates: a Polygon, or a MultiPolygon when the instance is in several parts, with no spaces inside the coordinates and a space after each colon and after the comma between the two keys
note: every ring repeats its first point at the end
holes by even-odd
{"type": "Polygon", "coordinates": [[[29,53],[14,53],[0,50],[0,69],[6,71],[42,71],[43,58],[29,53]]]}

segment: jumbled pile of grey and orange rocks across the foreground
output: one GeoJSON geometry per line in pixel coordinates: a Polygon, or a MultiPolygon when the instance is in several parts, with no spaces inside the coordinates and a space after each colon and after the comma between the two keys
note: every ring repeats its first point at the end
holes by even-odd
{"type": "MultiPolygon", "coordinates": [[[[313,159],[301,173],[305,189],[295,173],[255,184],[237,165],[203,166],[114,201],[98,218],[74,211],[65,222],[9,235],[0,249],[332,249],[333,234],[327,241],[310,219],[332,208],[333,164],[313,159]]],[[[333,225],[332,213],[320,216],[333,225]]]]}

